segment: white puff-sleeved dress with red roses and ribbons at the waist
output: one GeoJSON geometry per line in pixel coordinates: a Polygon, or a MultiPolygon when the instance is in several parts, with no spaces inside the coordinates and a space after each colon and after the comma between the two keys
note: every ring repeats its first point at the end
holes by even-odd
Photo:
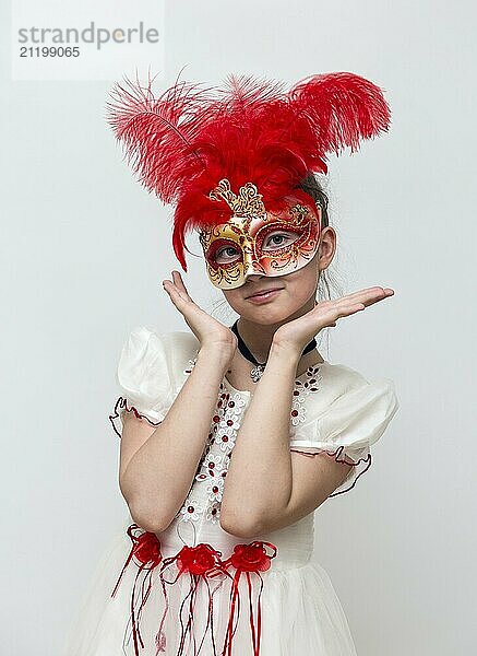
{"type": "MultiPolygon", "coordinates": [[[[152,425],[164,419],[198,349],[189,332],[131,331],[117,370],[121,396],[109,417],[119,436],[123,412],[152,425]]],[[[330,577],[313,562],[313,513],[253,540],[220,527],[227,465],[252,396],[223,378],[182,507],[159,534],[134,525],[128,512],[85,589],[65,656],[356,656],[330,577]]],[[[389,378],[369,382],[326,361],[310,366],[295,380],[290,448],[354,465],[336,496],[369,468],[370,446],[397,409],[389,378]]]]}

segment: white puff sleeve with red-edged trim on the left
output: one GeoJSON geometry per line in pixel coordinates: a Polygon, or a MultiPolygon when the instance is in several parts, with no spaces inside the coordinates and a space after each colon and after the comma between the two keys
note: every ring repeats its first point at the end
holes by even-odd
{"type": "Polygon", "coordinates": [[[138,326],[128,336],[116,372],[121,396],[109,415],[118,436],[124,412],[134,411],[151,425],[164,420],[172,400],[165,342],[164,335],[147,326],[138,326]]]}

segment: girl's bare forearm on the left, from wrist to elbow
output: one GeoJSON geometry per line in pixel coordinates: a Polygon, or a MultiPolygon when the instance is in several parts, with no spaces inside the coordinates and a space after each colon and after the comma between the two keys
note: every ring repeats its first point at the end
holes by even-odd
{"type": "Polygon", "coordinates": [[[163,530],[180,508],[205,448],[227,358],[201,349],[164,421],[131,458],[121,489],[135,520],[163,530]]]}

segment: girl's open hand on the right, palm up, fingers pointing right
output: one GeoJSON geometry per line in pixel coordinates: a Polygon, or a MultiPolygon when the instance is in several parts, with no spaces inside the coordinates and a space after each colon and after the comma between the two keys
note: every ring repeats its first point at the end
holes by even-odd
{"type": "Polygon", "coordinates": [[[301,354],[305,347],[323,328],[336,326],[337,319],[360,312],[393,294],[391,288],[373,286],[333,301],[323,301],[301,317],[281,326],[273,336],[273,342],[290,347],[301,354]]]}

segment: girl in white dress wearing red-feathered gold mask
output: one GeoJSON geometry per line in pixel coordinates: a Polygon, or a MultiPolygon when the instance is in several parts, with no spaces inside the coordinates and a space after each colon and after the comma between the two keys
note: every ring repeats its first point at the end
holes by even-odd
{"type": "Polygon", "coordinates": [[[324,360],[315,336],[393,295],[317,302],[336,233],[313,172],[386,129],[381,90],[353,73],[288,94],[230,79],[218,99],[118,86],[110,122],[142,181],[177,202],[174,247],[199,230],[223,325],[175,270],[189,331],[128,336],[110,420],[130,515],[98,564],[68,656],[350,656],[339,600],[313,561],[313,512],[371,465],[398,402],[392,380],[324,360]],[[121,421],[119,421],[119,419],[121,421]]]}

